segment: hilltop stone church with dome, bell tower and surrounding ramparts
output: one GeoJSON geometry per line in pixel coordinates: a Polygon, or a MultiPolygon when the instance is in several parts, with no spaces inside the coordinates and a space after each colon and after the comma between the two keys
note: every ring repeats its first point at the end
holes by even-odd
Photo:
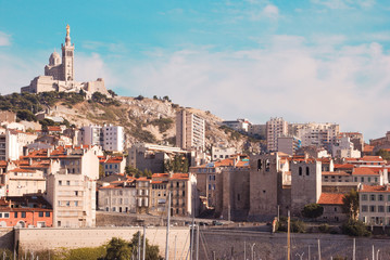
{"type": "Polygon", "coordinates": [[[65,44],[61,44],[62,56],[55,51],[45,66],[45,76],[38,76],[30,84],[23,87],[21,92],[39,93],[46,91],[79,92],[83,90],[90,98],[95,92],[110,95],[105,89],[104,80],[78,82],[75,80],[74,51],[75,44],[71,42],[71,27],[66,26],[65,44]]]}

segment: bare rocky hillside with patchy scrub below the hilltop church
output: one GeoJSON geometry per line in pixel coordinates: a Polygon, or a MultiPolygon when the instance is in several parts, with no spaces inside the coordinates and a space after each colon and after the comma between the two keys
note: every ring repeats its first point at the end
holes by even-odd
{"type": "MultiPolygon", "coordinates": [[[[14,99],[39,100],[40,109],[49,110],[50,116],[61,116],[83,127],[90,123],[113,123],[123,126],[126,132],[127,145],[136,142],[149,142],[156,144],[175,144],[175,115],[179,109],[187,109],[205,119],[206,122],[206,147],[219,142],[234,146],[238,152],[257,151],[259,141],[249,139],[237,131],[221,127],[222,118],[196,108],[181,107],[172,103],[168,99],[147,99],[142,96],[127,98],[96,96],[92,100],[79,99],[78,94],[59,95],[47,94],[22,94],[14,99]],[[49,99],[49,98],[50,99],[49,99]]],[[[28,102],[29,102],[28,101],[28,102]]],[[[17,103],[12,102],[11,103],[17,103]]],[[[25,110],[24,110],[25,112],[25,110]]]]}

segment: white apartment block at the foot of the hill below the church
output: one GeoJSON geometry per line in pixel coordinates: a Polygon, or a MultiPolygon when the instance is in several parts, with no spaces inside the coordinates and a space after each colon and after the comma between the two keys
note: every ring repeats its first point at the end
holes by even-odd
{"type": "Polygon", "coordinates": [[[80,144],[100,145],[104,151],[123,152],[125,132],[119,126],[86,126],[80,129],[78,141],[80,144]]]}

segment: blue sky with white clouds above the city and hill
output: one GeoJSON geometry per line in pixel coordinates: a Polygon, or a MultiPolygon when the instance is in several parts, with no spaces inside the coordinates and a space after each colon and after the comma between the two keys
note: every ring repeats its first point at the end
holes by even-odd
{"type": "Polygon", "coordinates": [[[43,75],[65,26],[75,78],[226,120],[390,130],[388,0],[0,0],[0,93],[43,75]]]}

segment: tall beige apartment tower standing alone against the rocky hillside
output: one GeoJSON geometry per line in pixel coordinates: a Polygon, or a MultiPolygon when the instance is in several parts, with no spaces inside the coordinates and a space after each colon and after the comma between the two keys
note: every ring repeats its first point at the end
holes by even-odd
{"type": "Polygon", "coordinates": [[[176,114],[176,146],[204,150],[205,123],[200,116],[180,110],[176,114]]]}

